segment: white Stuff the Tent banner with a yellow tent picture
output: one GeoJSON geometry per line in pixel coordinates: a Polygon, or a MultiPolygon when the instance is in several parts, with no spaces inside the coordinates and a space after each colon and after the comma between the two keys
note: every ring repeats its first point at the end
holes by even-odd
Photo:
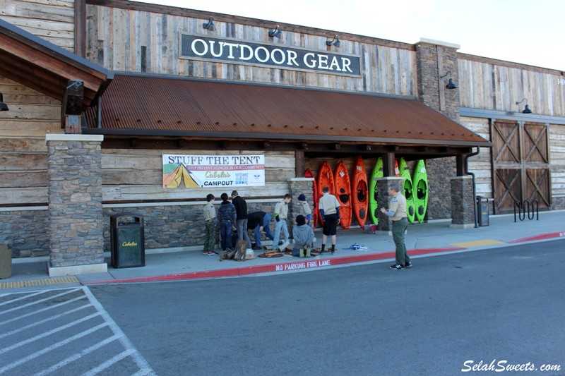
{"type": "Polygon", "coordinates": [[[162,154],[163,188],[265,185],[264,154],[162,154]]]}

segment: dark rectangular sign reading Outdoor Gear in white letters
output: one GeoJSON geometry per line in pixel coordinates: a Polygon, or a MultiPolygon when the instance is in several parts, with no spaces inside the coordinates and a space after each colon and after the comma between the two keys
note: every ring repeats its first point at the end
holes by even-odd
{"type": "Polygon", "coordinates": [[[288,48],[279,44],[242,43],[238,40],[220,40],[196,35],[181,35],[181,57],[356,77],[361,75],[359,56],[288,48]]]}

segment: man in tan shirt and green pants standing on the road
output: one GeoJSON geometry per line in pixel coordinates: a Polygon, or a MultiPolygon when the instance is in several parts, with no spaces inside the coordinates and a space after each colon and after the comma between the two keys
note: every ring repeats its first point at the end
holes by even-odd
{"type": "Polygon", "coordinates": [[[406,213],[406,198],[398,190],[397,183],[391,183],[388,186],[388,195],[391,196],[391,202],[388,203],[388,210],[381,207],[381,213],[386,214],[393,222],[393,240],[396,245],[396,264],[389,268],[393,270],[402,270],[405,267],[412,267],[410,257],[406,251],[404,243],[404,233],[408,227],[408,214],[406,213]]]}

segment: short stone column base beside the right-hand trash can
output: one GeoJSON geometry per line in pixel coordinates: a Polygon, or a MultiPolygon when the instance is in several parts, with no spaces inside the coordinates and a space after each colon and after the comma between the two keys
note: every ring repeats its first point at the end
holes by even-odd
{"type": "Polygon", "coordinates": [[[475,227],[475,198],[472,194],[472,177],[455,176],[451,183],[451,224],[456,229],[475,227]]]}

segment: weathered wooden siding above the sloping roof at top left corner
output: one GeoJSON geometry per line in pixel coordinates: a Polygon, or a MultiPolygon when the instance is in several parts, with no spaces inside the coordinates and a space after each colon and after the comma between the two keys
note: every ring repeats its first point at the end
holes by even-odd
{"type": "Polygon", "coordinates": [[[0,18],[74,51],[74,0],[0,0],[0,18]]]}

